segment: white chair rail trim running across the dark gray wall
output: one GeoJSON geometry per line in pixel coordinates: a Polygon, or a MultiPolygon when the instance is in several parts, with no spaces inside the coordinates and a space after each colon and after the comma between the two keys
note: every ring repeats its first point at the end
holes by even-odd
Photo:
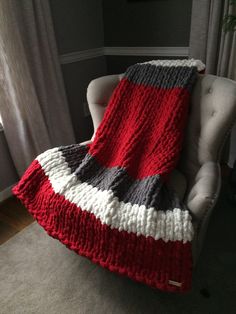
{"type": "Polygon", "coordinates": [[[59,60],[68,64],[103,56],[188,57],[188,54],[189,47],[100,47],[62,54],[59,60]]]}

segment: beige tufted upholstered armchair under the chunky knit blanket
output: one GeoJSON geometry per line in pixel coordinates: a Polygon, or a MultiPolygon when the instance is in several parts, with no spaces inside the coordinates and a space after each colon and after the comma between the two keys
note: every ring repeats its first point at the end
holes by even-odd
{"type": "MultiPolygon", "coordinates": [[[[94,134],[121,78],[122,74],[108,75],[93,80],[88,86],[87,100],[94,134]]],[[[235,120],[236,82],[213,75],[199,75],[192,91],[181,159],[169,183],[194,217],[195,263],[220,191],[221,151],[235,120]]]]}

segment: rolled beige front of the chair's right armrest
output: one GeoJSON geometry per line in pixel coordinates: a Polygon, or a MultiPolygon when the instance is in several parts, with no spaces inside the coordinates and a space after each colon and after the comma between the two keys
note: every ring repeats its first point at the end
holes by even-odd
{"type": "Polygon", "coordinates": [[[191,188],[186,205],[197,222],[210,214],[208,211],[215,205],[221,186],[220,165],[217,162],[205,162],[199,169],[195,183],[191,188]]]}

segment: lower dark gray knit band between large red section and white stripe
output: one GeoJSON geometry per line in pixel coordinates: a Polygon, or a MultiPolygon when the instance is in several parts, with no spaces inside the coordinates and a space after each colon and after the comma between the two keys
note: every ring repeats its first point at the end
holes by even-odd
{"type": "Polygon", "coordinates": [[[102,191],[111,190],[119,201],[164,211],[178,206],[178,199],[173,191],[161,182],[159,175],[135,180],[121,167],[106,168],[99,165],[93,156],[86,154],[88,148],[85,146],[71,145],[60,150],[71,172],[74,172],[80,181],[102,191]]]}

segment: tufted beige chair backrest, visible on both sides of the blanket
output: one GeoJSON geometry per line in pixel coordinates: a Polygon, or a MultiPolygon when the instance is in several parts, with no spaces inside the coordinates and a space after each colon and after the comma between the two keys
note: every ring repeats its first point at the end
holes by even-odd
{"type": "MultiPolygon", "coordinates": [[[[100,124],[120,75],[93,80],[87,91],[94,130],[100,124]]],[[[201,165],[217,161],[227,135],[236,120],[236,82],[214,75],[199,75],[194,85],[188,126],[179,164],[189,186],[201,165]]]]}

